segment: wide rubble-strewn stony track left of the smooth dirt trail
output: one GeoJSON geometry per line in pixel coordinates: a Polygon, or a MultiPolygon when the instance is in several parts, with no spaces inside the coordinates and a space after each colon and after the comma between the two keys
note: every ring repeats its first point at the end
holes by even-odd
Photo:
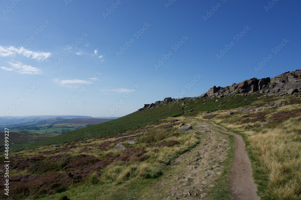
{"type": "Polygon", "coordinates": [[[152,185],[157,193],[144,199],[207,199],[206,191],[215,187],[229,148],[228,136],[212,124],[191,121],[200,132],[200,143],[176,158],[170,170],[152,185]]]}

